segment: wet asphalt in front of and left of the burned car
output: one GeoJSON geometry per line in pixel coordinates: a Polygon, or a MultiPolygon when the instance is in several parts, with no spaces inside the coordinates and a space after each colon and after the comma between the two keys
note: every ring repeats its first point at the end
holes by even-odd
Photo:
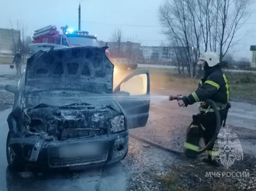
{"type": "Polygon", "coordinates": [[[42,172],[28,169],[11,172],[6,160],[7,117],[11,109],[0,112],[0,191],[121,191],[125,190],[128,173],[121,162],[79,171],[42,172]]]}

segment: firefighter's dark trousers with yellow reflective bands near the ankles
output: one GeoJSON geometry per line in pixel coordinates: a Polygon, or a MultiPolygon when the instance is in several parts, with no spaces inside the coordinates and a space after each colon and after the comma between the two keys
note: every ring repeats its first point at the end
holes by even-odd
{"type": "MultiPolygon", "coordinates": [[[[226,109],[220,110],[221,124],[226,117],[226,109]]],[[[187,129],[187,138],[185,142],[185,155],[189,158],[196,158],[199,151],[199,142],[203,138],[205,145],[212,139],[216,131],[216,115],[214,112],[200,112],[193,115],[193,121],[187,129]]],[[[217,139],[217,138],[216,138],[217,139]]],[[[215,141],[215,140],[214,140],[215,141]]],[[[212,160],[212,146],[207,150],[208,159],[212,160]]]]}

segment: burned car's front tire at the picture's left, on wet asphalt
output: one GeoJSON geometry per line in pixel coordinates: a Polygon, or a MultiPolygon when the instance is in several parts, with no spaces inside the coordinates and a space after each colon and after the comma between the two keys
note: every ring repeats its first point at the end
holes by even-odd
{"type": "Polygon", "coordinates": [[[25,168],[24,163],[19,155],[15,154],[13,149],[10,146],[10,140],[14,135],[12,132],[8,132],[7,141],[6,141],[6,157],[9,168],[11,170],[23,170],[25,168]]]}

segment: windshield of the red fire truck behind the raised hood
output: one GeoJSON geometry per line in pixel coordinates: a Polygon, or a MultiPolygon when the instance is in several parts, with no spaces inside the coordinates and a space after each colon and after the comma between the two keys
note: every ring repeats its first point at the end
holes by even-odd
{"type": "Polygon", "coordinates": [[[95,38],[69,36],[68,40],[71,45],[100,47],[100,44],[95,38]]]}

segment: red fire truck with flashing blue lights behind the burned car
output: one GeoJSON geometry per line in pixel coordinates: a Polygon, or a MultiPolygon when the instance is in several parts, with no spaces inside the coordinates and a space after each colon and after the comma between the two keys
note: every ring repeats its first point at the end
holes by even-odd
{"type": "MultiPolygon", "coordinates": [[[[96,35],[89,35],[88,31],[73,30],[67,25],[61,27],[60,33],[56,26],[46,26],[34,31],[32,43],[50,43],[60,46],[78,47],[78,46],[96,46],[100,47],[96,35]]],[[[106,55],[109,58],[110,53],[106,50],[106,55]]]]}

